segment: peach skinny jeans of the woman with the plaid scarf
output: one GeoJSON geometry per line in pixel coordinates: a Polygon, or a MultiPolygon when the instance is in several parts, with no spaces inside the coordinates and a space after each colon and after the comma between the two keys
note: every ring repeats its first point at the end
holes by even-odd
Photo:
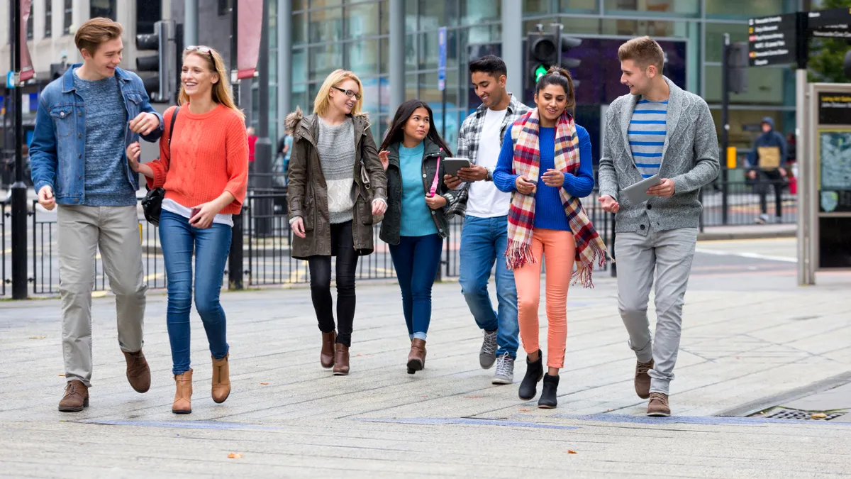
{"type": "Polygon", "coordinates": [[[540,349],[538,306],[540,304],[541,257],[546,263],[546,366],[564,366],[564,346],[568,341],[568,286],[574,269],[576,242],[569,231],[534,228],[532,254],[535,263],[514,270],[517,283],[517,322],[526,354],[540,349]]]}

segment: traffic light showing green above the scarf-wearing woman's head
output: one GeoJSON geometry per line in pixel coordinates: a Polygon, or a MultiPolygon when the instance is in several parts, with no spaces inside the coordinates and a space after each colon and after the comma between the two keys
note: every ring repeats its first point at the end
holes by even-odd
{"type": "MultiPolygon", "coordinates": [[[[526,72],[527,83],[532,85],[538,83],[551,66],[563,66],[573,69],[580,66],[580,60],[575,58],[563,58],[563,53],[574,49],[580,44],[580,38],[563,35],[563,26],[553,24],[551,34],[547,35],[541,31],[539,26],[537,32],[530,32],[526,36],[526,72]]],[[[578,84],[578,82],[574,82],[578,84]]]]}

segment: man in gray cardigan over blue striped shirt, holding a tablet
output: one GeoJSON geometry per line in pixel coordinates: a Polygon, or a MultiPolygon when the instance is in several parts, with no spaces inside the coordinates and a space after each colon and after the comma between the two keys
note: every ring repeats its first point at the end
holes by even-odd
{"type": "Polygon", "coordinates": [[[600,159],[600,204],[616,213],[620,317],[637,356],[636,393],[649,398],[648,416],[670,416],[668,385],[680,346],[683,296],[691,273],[702,206],[700,188],[720,168],[715,124],[700,96],[662,75],[664,53],[652,38],[633,38],[618,50],[630,88],[608,108],[600,159]],[[632,204],[619,192],[659,175],[648,201],[632,204]],[[647,305],[656,275],[656,334],[647,305]],[[655,341],[654,341],[655,339],[655,341]]]}

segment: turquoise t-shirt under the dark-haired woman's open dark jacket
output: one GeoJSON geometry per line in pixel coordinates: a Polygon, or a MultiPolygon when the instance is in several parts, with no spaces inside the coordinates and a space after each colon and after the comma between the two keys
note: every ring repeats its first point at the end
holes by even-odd
{"type": "Polygon", "coordinates": [[[399,145],[399,170],[402,174],[402,236],[426,236],[437,234],[431,219],[431,208],[426,205],[423,190],[423,153],[426,147],[420,144],[413,148],[399,145]]]}

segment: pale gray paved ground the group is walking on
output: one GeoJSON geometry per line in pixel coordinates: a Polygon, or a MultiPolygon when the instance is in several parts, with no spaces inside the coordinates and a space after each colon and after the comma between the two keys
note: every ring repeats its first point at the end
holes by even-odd
{"type": "Polygon", "coordinates": [[[170,412],[163,295],[148,301],[145,395],[124,378],[114,300],[94,299],[91,407],[71,414],[56,411],[59,303],[0,302],[0,476],[851,476],[851,423],[716,416],[851,370],[851,275],[795,286],[791,239],[701,242],[698,251],[667,419],[644,417],[632,390],[635,360],[608,274],[569,293],[554,410],[517,398],[523,353],[515,384],[490,384],[493,370],[478,367],[481,333],[452,282],[435,286],[426,370],[416,375],[405,372],[391,282],[358,286],[348,377],[318,364],[309,290],[223,293],[233,392],[220,405],[210,399],[193,313],[195,393],[183,417],[170,412]]]}

